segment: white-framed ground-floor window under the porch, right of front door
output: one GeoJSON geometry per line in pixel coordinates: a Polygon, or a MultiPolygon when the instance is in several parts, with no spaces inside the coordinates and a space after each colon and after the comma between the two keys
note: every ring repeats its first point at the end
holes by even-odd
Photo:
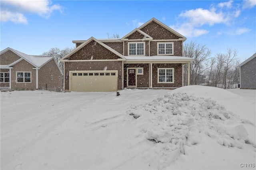
{"type": "Polygon", "coordinates": [[[174,68],[158,68],[158,83],[173,83],[174,68]]]}

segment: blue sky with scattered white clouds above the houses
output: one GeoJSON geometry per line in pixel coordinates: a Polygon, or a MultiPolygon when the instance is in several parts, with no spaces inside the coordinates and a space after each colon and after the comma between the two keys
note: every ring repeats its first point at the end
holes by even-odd
{"type": "Polygon", "coordinates": [[[85,1],[1,0],[0,49],[41,55],[72,40],[126,35],[151,18],[216,53],[256,53],[256,0],[85,1]]]}

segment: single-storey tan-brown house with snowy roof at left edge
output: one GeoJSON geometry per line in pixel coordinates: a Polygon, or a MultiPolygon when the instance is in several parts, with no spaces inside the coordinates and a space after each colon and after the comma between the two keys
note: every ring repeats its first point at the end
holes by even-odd
{"type": "Polygon", "coordinates": [[[0,88],[62,90],[62,71],[54,57],[26,55],[6,48],[0,52],[0,88]]]}

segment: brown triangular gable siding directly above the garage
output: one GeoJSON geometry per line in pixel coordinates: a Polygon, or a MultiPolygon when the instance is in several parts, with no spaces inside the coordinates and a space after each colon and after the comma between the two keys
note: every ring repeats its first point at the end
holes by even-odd
{"type": "Polygon", "coordinates": [[[99,43],[92,40],[90,43],[82,47],[71,55],[69,60],[103,60],[103,59],[118,59],[118,55],[112,53],[99,43]]]}

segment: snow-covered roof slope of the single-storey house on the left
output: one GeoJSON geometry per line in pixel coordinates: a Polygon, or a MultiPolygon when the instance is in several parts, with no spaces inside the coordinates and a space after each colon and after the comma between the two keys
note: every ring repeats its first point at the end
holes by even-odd
{"type": "Polygon", "coordinates": [[[27,55],[24,54],[20,51],[12,49],[15,53],[20,55],[20,57],[24,58],[26,61],[31,63],[32,65],[36,67],[41,67],[44,64],[46,64],[48,61],[50,61],[53,57],[48,57],[48,56],[37,56],[37,55],[27,55]]]}

